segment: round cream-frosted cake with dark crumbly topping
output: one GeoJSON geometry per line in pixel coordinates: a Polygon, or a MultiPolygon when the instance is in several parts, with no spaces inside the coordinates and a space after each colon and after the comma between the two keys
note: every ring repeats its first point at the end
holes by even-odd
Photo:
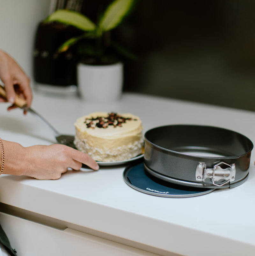
{"type": "Polygon", "coordinates": [[[94,160],[112,162],[142,153],[142,122],[130,113],[94,112],[75,122],[74,144],[94,160]]]}

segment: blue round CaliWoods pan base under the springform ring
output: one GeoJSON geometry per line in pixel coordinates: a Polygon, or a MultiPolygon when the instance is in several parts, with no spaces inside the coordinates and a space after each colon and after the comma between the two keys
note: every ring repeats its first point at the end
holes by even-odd
{"type": "Polygon", "coordinates": [[[192,188],[180,186],[169,182],[162,182],[149,177],[143,162],[128,166],[123,172],[125,182],[135,190],[158,197],[186,198],[208,194],[215,189],[192,188]]]}

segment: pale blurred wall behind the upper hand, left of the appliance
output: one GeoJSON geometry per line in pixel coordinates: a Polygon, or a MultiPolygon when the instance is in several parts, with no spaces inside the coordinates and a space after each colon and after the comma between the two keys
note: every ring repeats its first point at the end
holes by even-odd
{"type": "Polygon", "coordinates": [[[0,0],[0,49],[31,78],[33,41],[38,23],[49,14],[50,0],[0,0]]]}

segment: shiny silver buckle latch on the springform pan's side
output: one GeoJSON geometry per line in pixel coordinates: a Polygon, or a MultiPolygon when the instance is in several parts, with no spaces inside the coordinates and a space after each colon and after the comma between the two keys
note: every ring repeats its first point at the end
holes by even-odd
{"type": "Polygon", "coordinates": [[[205,162],[199,162],[196,168],[196,181],[204,182],[205,179],[211,179],[215,186],[221,187],[228,182],[235,180],[236,165],[220,162],[213,168],[206,168],[205,162]],[[222,182],[219,182],[223,180],[222,182]],[[215,183],[219,182],[219,183],[215,183]]]}

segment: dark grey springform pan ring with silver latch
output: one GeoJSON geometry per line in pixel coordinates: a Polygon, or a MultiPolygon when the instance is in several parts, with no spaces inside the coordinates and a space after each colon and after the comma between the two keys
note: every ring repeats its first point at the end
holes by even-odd
{"type": "Polygon", "coordinates": [[[145,135],[144,167],[148,175],[182,186],[231,188],[249,174],[253,144],[224,128],[167,125],[145,135]]]}

